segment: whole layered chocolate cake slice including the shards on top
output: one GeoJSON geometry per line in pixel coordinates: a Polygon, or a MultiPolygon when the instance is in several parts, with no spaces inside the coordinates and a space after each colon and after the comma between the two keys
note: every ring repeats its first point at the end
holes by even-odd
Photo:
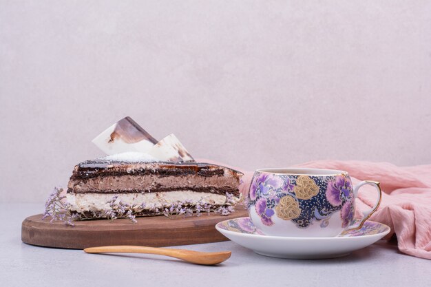
{"type": "MultiPolygon", "coordinates": [[[[72,220],[145,215],[227,215],[240,200],[242,173],[195,162],[170,134],[157,141],[132,118],[108,127],[93,140],[105,158],[76,165],[67,185],[72,220]]],[[[49,204],[48,204],[49,205],[49,204]]]]}

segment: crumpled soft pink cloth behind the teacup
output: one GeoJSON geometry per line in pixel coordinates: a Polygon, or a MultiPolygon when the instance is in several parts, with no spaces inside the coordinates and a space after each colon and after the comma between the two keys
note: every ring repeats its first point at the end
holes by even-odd
{"type": "MultiPolygon", "coordinates": [[[[399,251],[431,259],[431,164],[397,167],[387,162],[322,160],[298,164],[297,167],[348,171],[354,185],[361,180],[379,181],[382,200],[370,220],[390,227],[391,232],[386,239],[396,234],[399,251]]],[[[253,172],[242,172],[244,184],[240,190],[246,195],[253,172]]],[[[356,200],[356,217],[361,216],[361,211],[370,209],[376,198],[374,187],[361,187],[356,200]]]]}

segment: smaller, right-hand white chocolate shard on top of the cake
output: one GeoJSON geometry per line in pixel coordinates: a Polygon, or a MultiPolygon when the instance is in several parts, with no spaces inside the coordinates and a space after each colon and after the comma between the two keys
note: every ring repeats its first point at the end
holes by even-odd
{"type": "Polygon", "coordinates": [[[189,162],[194,161],[190,153],[174,135],[163,138],[148,151],[150,156],[167,162],[189,162]]]}

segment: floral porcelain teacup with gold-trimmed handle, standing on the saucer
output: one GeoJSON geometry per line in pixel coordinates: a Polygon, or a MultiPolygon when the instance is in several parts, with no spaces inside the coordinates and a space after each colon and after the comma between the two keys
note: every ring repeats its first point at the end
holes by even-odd
{"type": "Polygon", "coordinates": [[[265,235],[335,237],[361,228],[380,201],[379,182],[365,180],[353,187],[346,171],[257,169],[251,180],[248,208],[251,221],[265,235]],[[364,184],[377,189],[377,202],[353,224],[355,198],[364,184]]]}

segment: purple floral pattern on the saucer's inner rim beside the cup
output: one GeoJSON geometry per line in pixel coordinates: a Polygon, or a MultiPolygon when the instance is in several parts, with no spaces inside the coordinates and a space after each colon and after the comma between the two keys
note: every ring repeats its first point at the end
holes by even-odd
{"type": "MultiPolygon", "coordinates": [[[[355,224],[357,220],[353,221],[355,224]]],[[[217,224],[219,228],[227,231],[233,231],[237,233],[254,234],[254,235],[264,235],[261,231],[258,231],[253,222],[251,222],[250,217],[240,217],[233,220],[226,220],[224,222],[219,222],[217,224]]],[[[380,224],[379,222],[366,221],[362,228],[350,231],[344,231],[337,237],[357,237],[364,235],[374,235],[379,233],[384,233],[388,231],[388,226],[380,224]]],[[[264,235],[265,236],[265,235],[264,235]]]]}

